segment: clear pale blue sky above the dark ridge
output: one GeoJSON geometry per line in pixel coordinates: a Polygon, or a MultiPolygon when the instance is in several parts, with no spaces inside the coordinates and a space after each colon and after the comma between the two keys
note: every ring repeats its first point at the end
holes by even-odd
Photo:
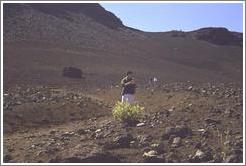
{"type": "Polygon", "coordinates": [[[242,3],[100,3],[124,25],[149,32],[225,27],[243,32],[242,3]]]}

